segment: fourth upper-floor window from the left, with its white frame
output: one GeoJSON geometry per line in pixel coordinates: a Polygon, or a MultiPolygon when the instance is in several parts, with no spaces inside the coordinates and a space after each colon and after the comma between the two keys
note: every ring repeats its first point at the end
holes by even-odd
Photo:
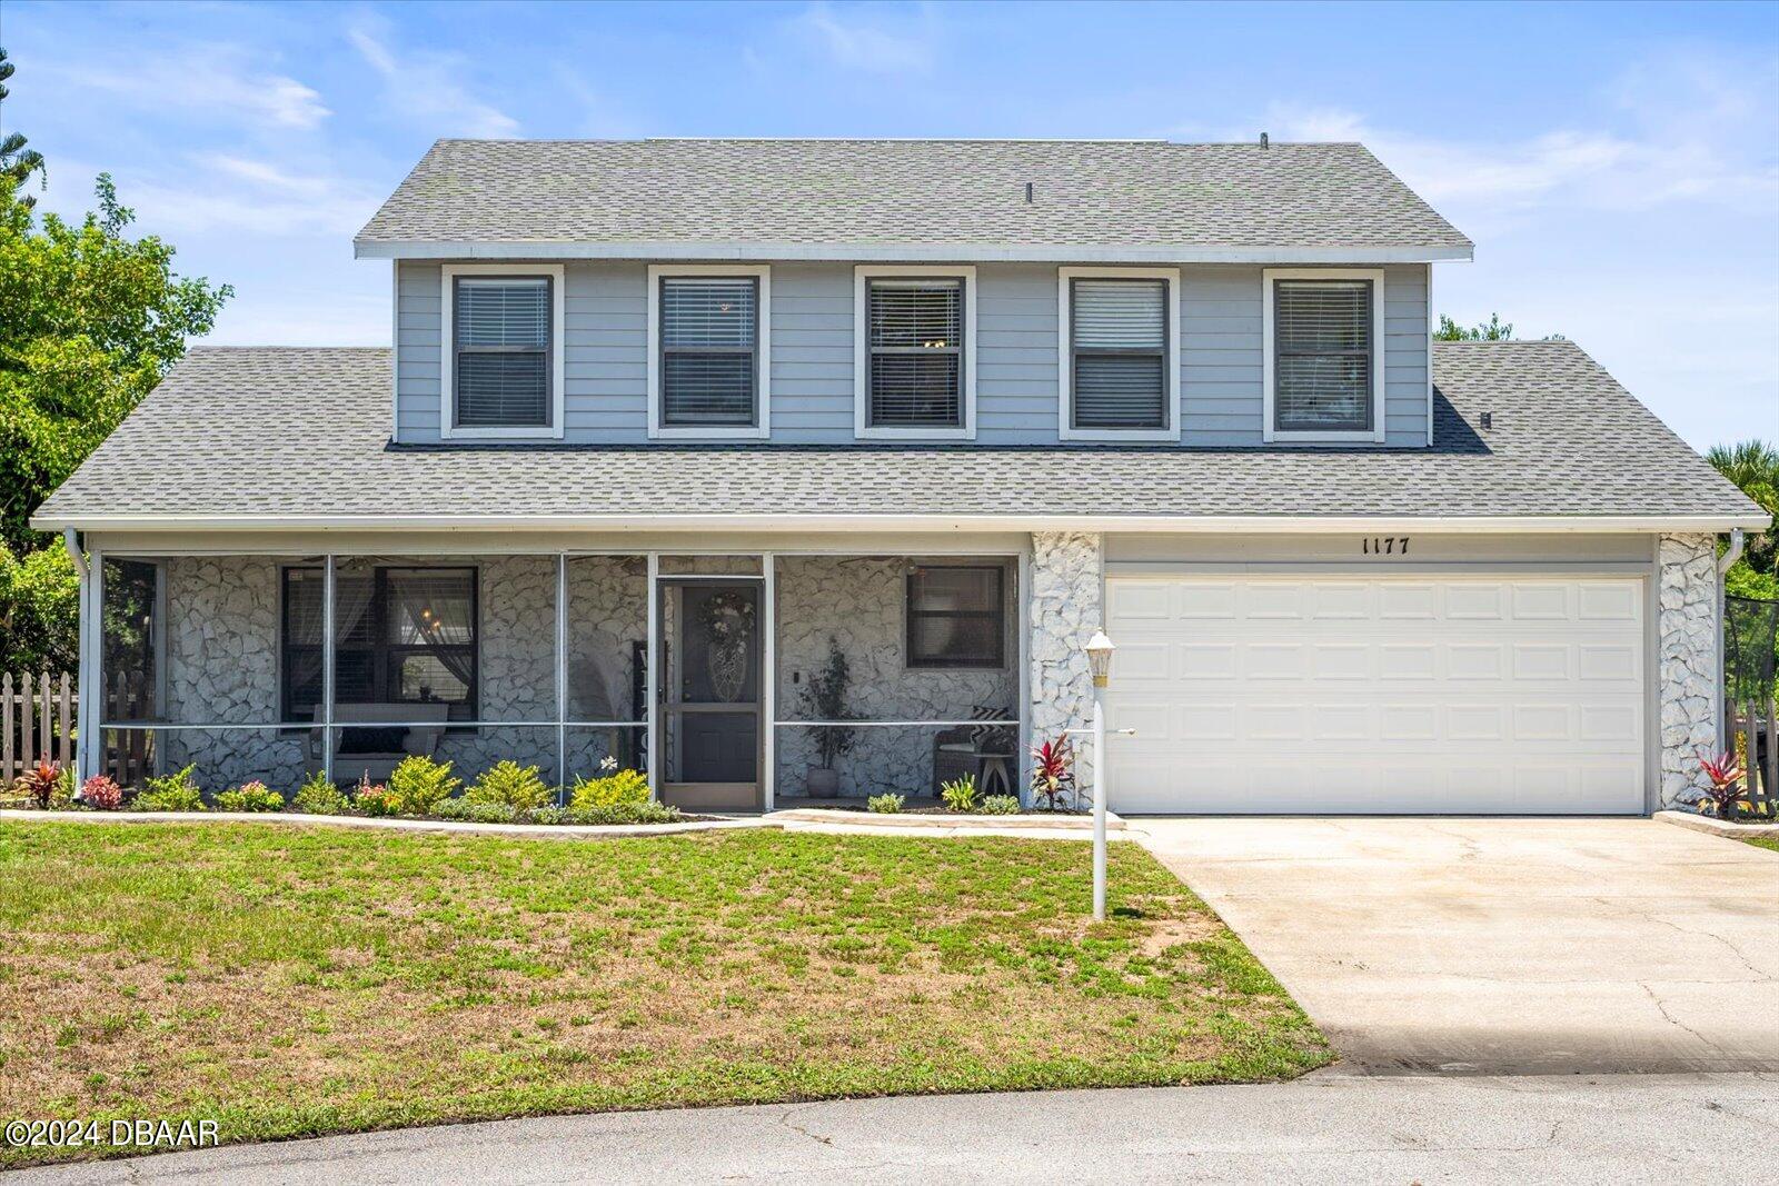
{"type": "Polygon", "coordinates": [[[1178,434],[1178,272],[1062,268],[1062,436],[1178,434]]]}

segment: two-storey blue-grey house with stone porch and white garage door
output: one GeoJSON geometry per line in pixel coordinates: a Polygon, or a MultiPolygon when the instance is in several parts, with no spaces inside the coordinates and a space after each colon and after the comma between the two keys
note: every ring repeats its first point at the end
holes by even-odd
{"type": "Polygon", "coordinates": [[[1635,814],[1715,741],[1761,512],[1576,345],[1432,341],[1471,244],[1359,144],[441,140],[354,247],[393,350],[194,349],[37,510],[89,768],[1018,788],[1101,624],[1117,811],[1635,814]]]}

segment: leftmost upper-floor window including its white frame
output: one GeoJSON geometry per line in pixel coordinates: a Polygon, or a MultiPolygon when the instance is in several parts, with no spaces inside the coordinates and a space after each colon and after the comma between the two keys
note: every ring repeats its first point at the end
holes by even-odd
{"type": "Polygon", "coordinates": [[[445,265],[441,436],[562,434],[562,267],[445,265]]]}

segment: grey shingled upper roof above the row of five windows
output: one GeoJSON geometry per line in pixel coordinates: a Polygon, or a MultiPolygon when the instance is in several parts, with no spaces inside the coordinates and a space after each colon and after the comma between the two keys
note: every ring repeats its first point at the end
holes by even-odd
{"type": "Polygon", "coordinates": [[[375,258],[1471,256],[1363,144],[1165,140],[438,140],[354,247],[375,258]]]}

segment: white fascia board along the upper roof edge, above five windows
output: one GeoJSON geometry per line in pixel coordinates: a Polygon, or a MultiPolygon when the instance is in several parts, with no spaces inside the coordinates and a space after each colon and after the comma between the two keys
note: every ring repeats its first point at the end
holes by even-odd
{"type": "Polygon", "coordinates": [[[722,261],[838,260],[847,263],[1432,263],[1469,260],[1464,247],[1066,247],[1028,244],[587,244],[523,242],[370,242],[356,240],[358,260],[655,260],[722,261]]]}

